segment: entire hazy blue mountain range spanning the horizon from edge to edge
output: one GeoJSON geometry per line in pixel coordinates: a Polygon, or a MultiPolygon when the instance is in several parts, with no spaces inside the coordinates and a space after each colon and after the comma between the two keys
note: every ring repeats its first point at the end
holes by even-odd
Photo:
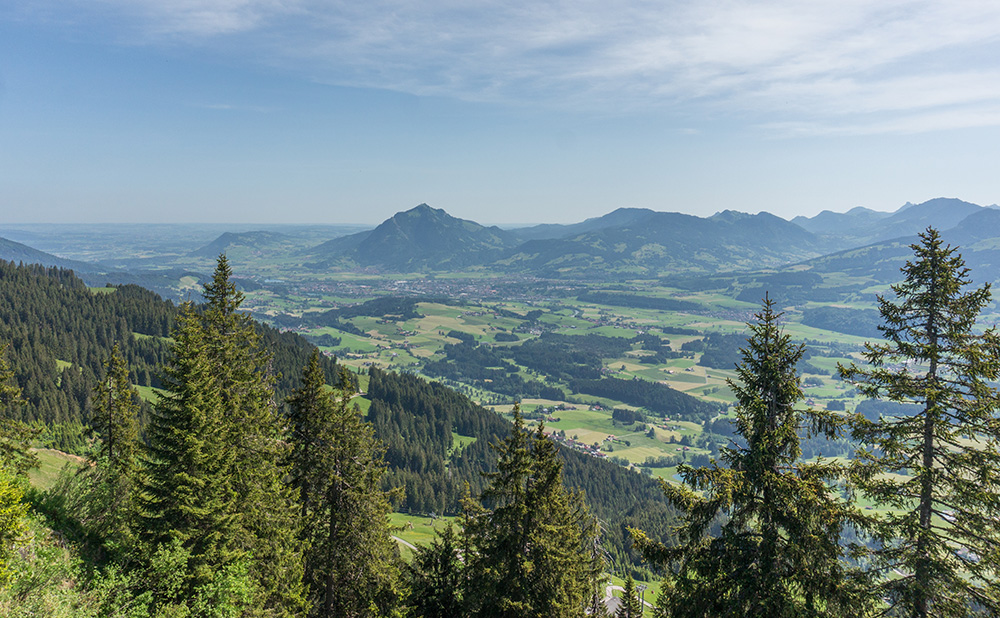
{"type": "MultiPolygon", "coordinates": [[[[944,232],[948,242],[962,245],[970,265],[1000,265],[996,255],[1000,209],[953,198],[906,203],[891,213],[854,208],[791,221],[766,212],[752,215],[725,210],[696,217],[619,208],[579,223],[516,229],[484,226],[420,204],[373,229],[320,244],[270,230],[226,232],[181,258],[213,258],[227,253],[280,257],[313,272],[481,270],[556,279],[698,275],[793,264],[818,273],[868,269],[891,277],[909,251],[908,245],[928,225],[944,232]]],[[[5,239],[0,239],[0,258],[72,268],[88,280],[108,276],[121,280],[126,273],[101,264],[66,260],[5,239]]],[[[173,266],[184,270],[196,267],[196,263],[181,259],[173,266]]],[[[149,272],[132,274],[145,277],[149,272]]],[[[997,272],[992,278],[1000,279],[997,270],[989,272],[997,272]]],[[[157,273],[158,277],[167,275],[162,270],[157,273]]]]}

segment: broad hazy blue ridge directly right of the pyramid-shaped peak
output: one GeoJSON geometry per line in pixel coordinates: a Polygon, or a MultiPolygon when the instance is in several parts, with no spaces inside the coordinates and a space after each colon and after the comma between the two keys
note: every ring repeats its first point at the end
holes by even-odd
{"type": "Polygon", "coordinates": [[[814,234],[768,213],[649,212],[619,227],[528,241],[500,265],[548,277],[746,270],[814,257],[821,246],[814,234]]]}

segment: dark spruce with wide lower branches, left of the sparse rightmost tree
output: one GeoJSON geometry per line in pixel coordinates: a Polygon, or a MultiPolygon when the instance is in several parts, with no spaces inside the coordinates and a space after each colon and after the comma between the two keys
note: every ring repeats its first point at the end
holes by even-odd
{"type": "Polygon", "coordinates": [[[841,531],[856,517],[829,488],[840,470],[799,461],[798,430],[832,434],[837,419],[796,409],[803,347],[781,331],[769,298],[755,317],[739,381],[729,382],[740,440],[721,450],[724,465],[681,466],[687,487],[662,483],[687,513],[676,547],[634,532],[649,559],[675,569],[659,604],[671,618],[864,615],[863,586],[841,561],[841,531]],[[721,534],[711,538],[721,515],[721,534]]]}

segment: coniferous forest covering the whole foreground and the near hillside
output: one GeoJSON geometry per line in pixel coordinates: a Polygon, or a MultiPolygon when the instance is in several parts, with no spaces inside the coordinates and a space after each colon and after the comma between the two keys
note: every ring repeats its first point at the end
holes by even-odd
{"type": "MultiPolygon", "coordinates": [[[[562,449],[516,407],[511,424],[413,375],[370,369],[362,412],[357,376],[241,311],[225,256],[204,302],[179,307],[0,264],[0,609],[605,615],[615,568],[618,616],[1000,615],[1000,335],[977,325],[991,293],[935,230],[911,249],[879,297],[882,339],[839,369],[890,411],[804,405],[806,350],[765,296],[730,381],[734,439],[682,465],[683,484],[562,449]],[[455,434],[477,439],[456,452],[455,434]],[[849,460],[803,459],[847,439],[849,460]],[[33,445],[86,460],[34,490],[33,445]],[[404,561],[395,509],[455,520],[404,561]],[[655,607],[633,575],[662,579],[655,607]]],[[[596,356],[562,344],[539,339],[518,361],[712,420],[665,387],[593,380],[596,356]]],[[[453,352],[442,371],[486,353],[453,352]]]]}

